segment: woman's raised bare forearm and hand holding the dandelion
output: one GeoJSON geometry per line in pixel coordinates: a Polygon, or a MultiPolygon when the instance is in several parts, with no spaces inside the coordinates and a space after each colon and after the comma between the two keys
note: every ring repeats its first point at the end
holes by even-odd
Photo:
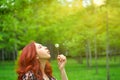
{"type": "Polygon", "coordinates": [[[62,80],[68,80],[68,77],[64,68],[66,64],[66,57],[64,55],[58,55],[57,59],[58,59],[58,66],[60,69],[62,80]]]}

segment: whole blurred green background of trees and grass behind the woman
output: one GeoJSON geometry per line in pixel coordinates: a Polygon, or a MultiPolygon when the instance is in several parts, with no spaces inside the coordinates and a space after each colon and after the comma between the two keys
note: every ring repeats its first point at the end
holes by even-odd
{"type": "Polygon", "coordinates": [[[33,40],[50,49],[57,80],[58,51],[69,80],[120,80],[119,16],[120,0],[0,0],[0,80],[17,80],[17,56],[33,40]]]}

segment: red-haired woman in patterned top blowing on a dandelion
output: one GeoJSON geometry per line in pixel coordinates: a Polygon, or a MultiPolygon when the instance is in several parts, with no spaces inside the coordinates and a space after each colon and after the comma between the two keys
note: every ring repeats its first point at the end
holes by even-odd
{"type": "MultiPolygon", "coordinates": [[[[18,61],[18,80],[56,80],[48,61],[50,57],[48,48],[41,44],[32,42],[25,46],[18,61]]],[[[58,55],[57,60],[61,79],[68,80],[64,69],[66,57],[58,55]]]]}

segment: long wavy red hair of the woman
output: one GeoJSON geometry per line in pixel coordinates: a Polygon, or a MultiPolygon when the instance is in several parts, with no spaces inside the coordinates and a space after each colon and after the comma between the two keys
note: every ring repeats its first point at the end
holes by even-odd
{"type": "MultiPolygon", "coordinates": [[[[22,80],[22,76],[28,71],[32,71],[38,80],[43,80],[40,62],[36,59],[36,54],[35,42],[32,42],[23,48],[18,60],[18,80],[22,80]]],[[[45,73],[47,76],[52,77],[52,68],[49,61],[46,62],[45,73]]]]}

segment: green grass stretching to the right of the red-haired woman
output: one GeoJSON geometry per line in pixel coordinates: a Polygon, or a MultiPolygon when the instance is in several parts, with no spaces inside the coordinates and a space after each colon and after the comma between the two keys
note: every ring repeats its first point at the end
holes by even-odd
{"type": "MultiPolygon", "coordinates": [[[[66,72],[69,80],[106,80],[106,59],[99,58],[98,62],[98,74],[96,74],[95,60],[92,60],[92,67],[86,67],[86,60],[84,59],[83,64],[79,64],[73,59],[69,59],[66,65],[66,72]]],[[[57,62],[52,62],[53,74],[60,80],[60,72],[57,68],[57,62]]],[[[110,60],[110,80],[120,80],[120,62],[117,60],[110,60]]]]}

